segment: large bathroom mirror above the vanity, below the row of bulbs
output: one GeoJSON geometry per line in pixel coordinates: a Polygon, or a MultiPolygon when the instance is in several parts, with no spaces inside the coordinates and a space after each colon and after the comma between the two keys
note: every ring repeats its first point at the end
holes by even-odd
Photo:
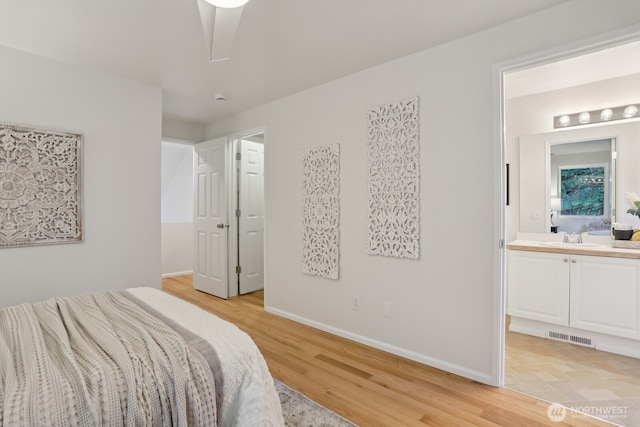
{"type": "MultiPolygon", "coordinates": [[[[625,191],[640,191],[637,173],[640,161],[640,122],[585,126],[518,138],[516,231],[531,233],[583,232],[610,234],[610,223],[624,222],[638,227],[637,218],[625,214],[625,191]],[[608,148],[607,148],[608,147],[608,148]],[[599,153],[599,154],[597,154],[599,153]],[[606,153],[606,154],[605,154],[606,153]],[[573,194],[562,202],[562,171],[571,177],[588,176],[599,188],[573,185],[573,194]],[[560,177],[560,178],[559,178],[560,177]],[[570,197],[590,195],[582,210],[568,210],[570,197]],[[561,199],[560,207],[558,202],[561,199]],[[594,201],[595,200],[595,201],[594,201]],[[598,202],[600,200],[600,202],[598,202]],[[553,203],[553,206],[552,206],[553,203]],[[589,211],[602,205],[602,212],[589,211]],[[553,217],[551,216],[553,209],[553,217]],[[552,223],[553,221],[553,223],[552,223]]],[[[571,183],[565,183],[565,187],[571,183]]]]}

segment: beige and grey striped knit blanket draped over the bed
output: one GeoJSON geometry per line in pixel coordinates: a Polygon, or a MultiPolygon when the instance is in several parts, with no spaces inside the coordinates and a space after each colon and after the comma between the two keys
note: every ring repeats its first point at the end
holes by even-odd
{"type": "Polygon", "coordinates": [[[0,309],[0,425],[215,426],[213,349],[134,300],[105,291],[0,309]]]}

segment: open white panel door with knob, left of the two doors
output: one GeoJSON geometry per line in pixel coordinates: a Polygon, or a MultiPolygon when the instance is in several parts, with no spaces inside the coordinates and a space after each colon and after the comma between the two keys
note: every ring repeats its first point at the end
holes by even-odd
{"type": "Polygon", "coordinates": [[[195,146],[193,286],[227,298],[228,208],[226,138],[195,146]]]}

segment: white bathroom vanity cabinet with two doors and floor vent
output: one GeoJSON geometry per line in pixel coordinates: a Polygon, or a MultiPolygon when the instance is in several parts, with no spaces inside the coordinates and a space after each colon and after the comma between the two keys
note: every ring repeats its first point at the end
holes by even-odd
{"type": "Polygon", "coordinates": [[[507,246],[510,330],[640,357],[640,251],[514,243],[507,246]]]}

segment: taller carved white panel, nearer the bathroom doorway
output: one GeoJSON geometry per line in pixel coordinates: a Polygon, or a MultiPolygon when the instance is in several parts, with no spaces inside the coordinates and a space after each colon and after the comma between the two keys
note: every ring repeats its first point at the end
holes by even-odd
{"type": "Polygon", "coordinates": [[[420,256],[418,97],[369,109],[369,247],[372,255],[420,256]]]}

